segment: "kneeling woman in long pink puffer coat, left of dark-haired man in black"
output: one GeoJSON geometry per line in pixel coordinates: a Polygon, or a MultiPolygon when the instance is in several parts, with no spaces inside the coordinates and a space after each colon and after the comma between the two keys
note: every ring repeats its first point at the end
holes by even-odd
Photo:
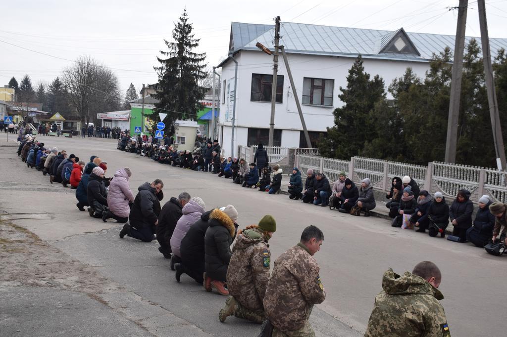
{"type": "Polygon", "coordinates": [[[134,194],[130,189],[128,179],[132,173],[130,168],[119,168],[115,177],[109,185],[107,193],[108,212],[102,212],[102,221],[107,222],[107,218],[113,218],[118,222],[127,222],[130,214],[129,203],[134,202],[134,194]]]}

